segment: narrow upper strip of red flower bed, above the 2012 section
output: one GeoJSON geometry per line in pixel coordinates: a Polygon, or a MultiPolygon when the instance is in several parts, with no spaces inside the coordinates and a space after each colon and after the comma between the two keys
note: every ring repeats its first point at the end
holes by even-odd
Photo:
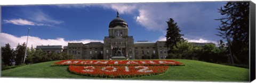
{"type": "Polygon", "coordinates": [[[173,60],[62,60],[52,66],[182,66],[173,60]]]}

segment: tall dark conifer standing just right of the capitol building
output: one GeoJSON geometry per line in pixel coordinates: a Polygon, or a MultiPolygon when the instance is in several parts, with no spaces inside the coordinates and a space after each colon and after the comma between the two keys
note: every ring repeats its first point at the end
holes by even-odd
{"type": "Polygon", "coordinates": [[[170,48],[168,53],[172,53],[173,46],[177,47],[177,43],[183,40],[181,36],[183,34],[180,34],[180,29],[177,25],[177,23],[174,23],[174,20],[170,18],[169,21],[166,22],[168,24],[168,28],[166,29],[166,47],[170,48]]]}

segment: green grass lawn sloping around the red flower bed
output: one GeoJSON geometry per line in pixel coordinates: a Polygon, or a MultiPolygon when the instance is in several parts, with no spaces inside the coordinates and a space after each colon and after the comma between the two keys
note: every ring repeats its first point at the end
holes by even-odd
{"type": "MultiPolygon", "coordinates": [[[[156,76],[115,78],[128,80],[194,80],[194,81],[249,81],[249,69],[225,66],[195,60],[173,59],[184,63],[186,66],[171,66],[169,69],[156,76]]],[[[51,67],[57,61],[30,64],[1,72],[2,77],[29,77],[29,78],[83,78],[102,79],[74,75],[67,71],[67,66],[51,67]]],[[[103,78],[106,79],[106,78],[103,78]]],[[[113,78],[108,78],[113,79],[113,78]]]]}

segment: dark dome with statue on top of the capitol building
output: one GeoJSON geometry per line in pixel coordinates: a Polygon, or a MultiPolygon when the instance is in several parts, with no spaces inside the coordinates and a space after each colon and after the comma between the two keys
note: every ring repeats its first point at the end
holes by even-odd
{"type": "Polygon", "coordinates": [[[122,27],[128,27],[126,21],[124,21],[121,17],[119,17],[119,13],[117,12],[117,16],[115,19],[113,19],[108,27],[115,27],[115,26],[122,26],[122,27]]]}

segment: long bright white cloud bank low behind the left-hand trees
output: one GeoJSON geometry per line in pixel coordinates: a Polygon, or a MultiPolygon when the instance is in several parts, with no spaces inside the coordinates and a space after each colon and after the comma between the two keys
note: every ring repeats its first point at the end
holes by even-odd
{"type": "MultiPolygon", "coordinates": [[[[17,47],[18,43],[23,43],[27,41],[27,36],[14,36],[7,33],[1,33],[1,47],[5,44],[9,43],[11,48],[17,47]]],[[[28,38],[28,47],[30,48],[33,45],[36,48],[36,45],[62,45],[67,46],[68,42],[82,42],[82,43],[89,43],[89,42],[103,42],[102,40],[90,40],[90,39],[83,39],[83,40],[72,40],[66,41],[64,38],[57,38],[57,39],[41,39],[36,36],[29,36],[28,38]]]]}

